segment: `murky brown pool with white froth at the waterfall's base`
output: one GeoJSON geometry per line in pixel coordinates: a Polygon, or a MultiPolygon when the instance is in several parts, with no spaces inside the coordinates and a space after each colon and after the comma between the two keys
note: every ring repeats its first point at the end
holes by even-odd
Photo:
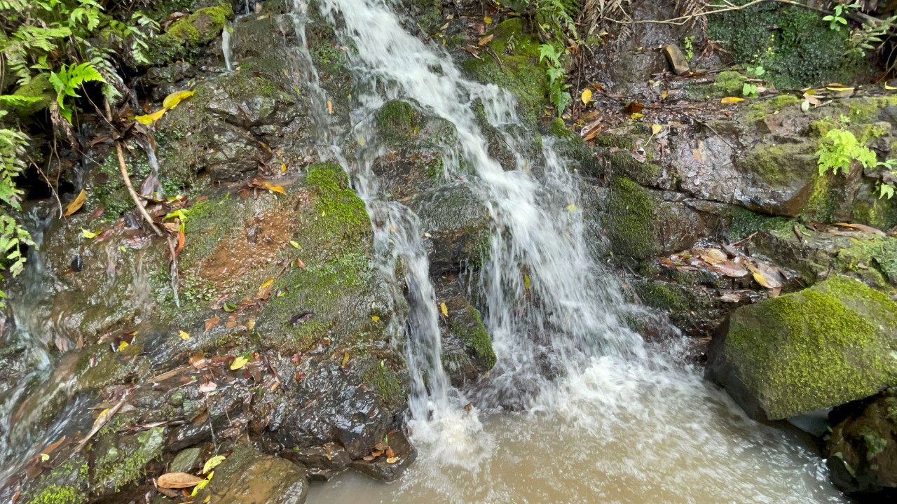
{"type": "Polygon", "coordinates": [[[745,418],[688,369],[597,360],[537,411],[483,417],[475,438],[418,443],[398,482],[346,473],[309,502],[849,502],[806,439],[745,418]]]}

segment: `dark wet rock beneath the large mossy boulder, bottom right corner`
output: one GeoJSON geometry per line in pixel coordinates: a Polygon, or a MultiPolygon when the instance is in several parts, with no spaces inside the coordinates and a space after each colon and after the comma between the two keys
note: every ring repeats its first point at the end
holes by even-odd
{"type": "Polygon", "coordinates": [[[845,404],[830,417],[825,456],[832,481],[859,502],[897,498],[897,389],[845,404]]]}

